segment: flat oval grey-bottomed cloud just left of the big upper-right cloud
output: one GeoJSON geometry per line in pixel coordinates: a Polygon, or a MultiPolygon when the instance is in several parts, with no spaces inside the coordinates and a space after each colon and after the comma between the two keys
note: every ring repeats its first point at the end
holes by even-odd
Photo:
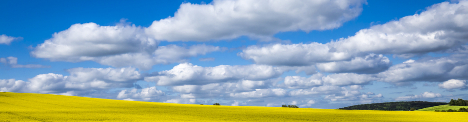
{"type": "Polygon", "coordinates": [[[237,55],[258,64],[306,66],[316,62],[343,61],[351,59],[346,52],[331,51],[322,43],[273,44],[263,47],[249,46],[237,55]]]}

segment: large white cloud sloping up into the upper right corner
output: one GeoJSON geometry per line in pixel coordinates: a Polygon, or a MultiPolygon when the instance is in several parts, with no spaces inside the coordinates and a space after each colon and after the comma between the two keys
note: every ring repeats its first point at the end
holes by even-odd
{"type": "Polygon", "coordinates": [[[401,57],[449,49],[467,43],[467,5],[468,1],[435,4],[421,14],[374,25],[331,44],[339,47],[338,51],[400,54],[401,57]]]}

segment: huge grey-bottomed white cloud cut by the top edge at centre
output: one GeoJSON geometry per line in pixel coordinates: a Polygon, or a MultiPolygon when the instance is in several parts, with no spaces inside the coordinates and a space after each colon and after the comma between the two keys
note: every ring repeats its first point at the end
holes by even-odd
{"type": "Polygon", "coordinates": [[[214,0],[183,3],[145,31],[156,40],[211,41],[240,36],[268,40],[278,32],[327,30],[354,19],[365,0],[214,0]]]}

